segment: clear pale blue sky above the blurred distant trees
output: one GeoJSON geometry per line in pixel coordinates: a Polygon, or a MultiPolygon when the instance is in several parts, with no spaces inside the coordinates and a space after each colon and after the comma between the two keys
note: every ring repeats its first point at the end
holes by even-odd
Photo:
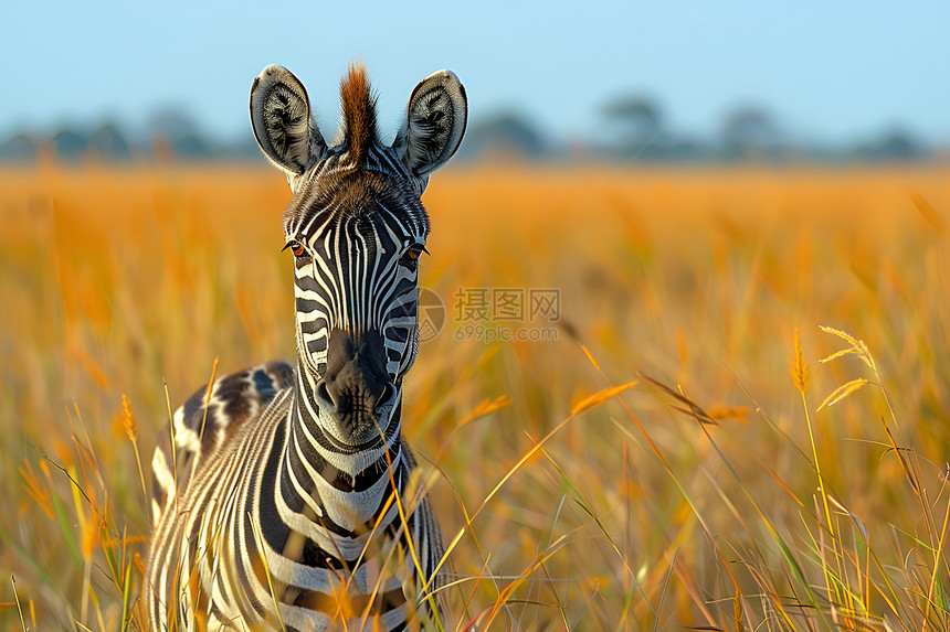
{"type": "Polygon", "coordinates": [[[827,142],[894,127],[950,141],[948,2],[0,3],[0,139],[106,118],[141,129],[170,106],[239,138],[270,63],[303,79],[330,135],[339,77],[360,58],[386,132],[446,67],[473,119],[515,107],[560,139],[594,135],[611,97],[645,94],[700,137],[757,104],[827,142]]]}

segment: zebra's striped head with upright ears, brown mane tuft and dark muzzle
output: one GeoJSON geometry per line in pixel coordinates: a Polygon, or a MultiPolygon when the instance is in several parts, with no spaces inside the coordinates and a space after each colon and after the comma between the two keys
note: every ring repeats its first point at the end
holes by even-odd
{"type": "Polygon", "coordinates": [[[251,121],[294,193],[284,233],[299,403],[336,449],[359,452],[399,430],[402,378],[419,349],[418,266],[429,235],[420,197],[462,141],[467,101],[453,73],[429,76],[387,146],[362,67],[350,67],[340,93],[342,129],[327,143],[303,84],[267,66],[251,88],[251,121]]]}

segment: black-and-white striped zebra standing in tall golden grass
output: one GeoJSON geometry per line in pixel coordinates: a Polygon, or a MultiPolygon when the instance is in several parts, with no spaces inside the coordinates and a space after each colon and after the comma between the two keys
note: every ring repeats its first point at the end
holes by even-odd
{"type": "Polygon", "coordinates": [[[154,630],[402,630],[445,613],[402,387],[419,352],[420,197],[458,149],[467,97],[455,74],[430,75],[389,146],[363,66],[340,100],[327,143],[289,71],[251,88],[254,136],[293,192],[296,365],[222,377],[175,413],[152,459],[154,630]]]}

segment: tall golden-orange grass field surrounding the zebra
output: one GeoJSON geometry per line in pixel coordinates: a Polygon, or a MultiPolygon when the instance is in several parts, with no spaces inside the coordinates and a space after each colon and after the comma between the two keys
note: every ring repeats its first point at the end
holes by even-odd
{"type": "MultiPolygon", "coordinates": [[[[0,172],[3,630],[145,629],[169,408],[293,358],[289,197],[0,172]]],[[[950,168],[469,165],[423,202],[448,629],[950,630],[950,168]]]]}

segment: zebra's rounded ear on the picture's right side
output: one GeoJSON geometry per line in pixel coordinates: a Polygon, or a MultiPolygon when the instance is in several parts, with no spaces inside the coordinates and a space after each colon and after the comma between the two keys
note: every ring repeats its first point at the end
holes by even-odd
{"type": "Polygon", "coordinates": [[[392,147],[410,173],[428,179],[458,149],[467,120],[465,88],[455,73],[439,71],[412,90],[405,121],[392,147]]]}

